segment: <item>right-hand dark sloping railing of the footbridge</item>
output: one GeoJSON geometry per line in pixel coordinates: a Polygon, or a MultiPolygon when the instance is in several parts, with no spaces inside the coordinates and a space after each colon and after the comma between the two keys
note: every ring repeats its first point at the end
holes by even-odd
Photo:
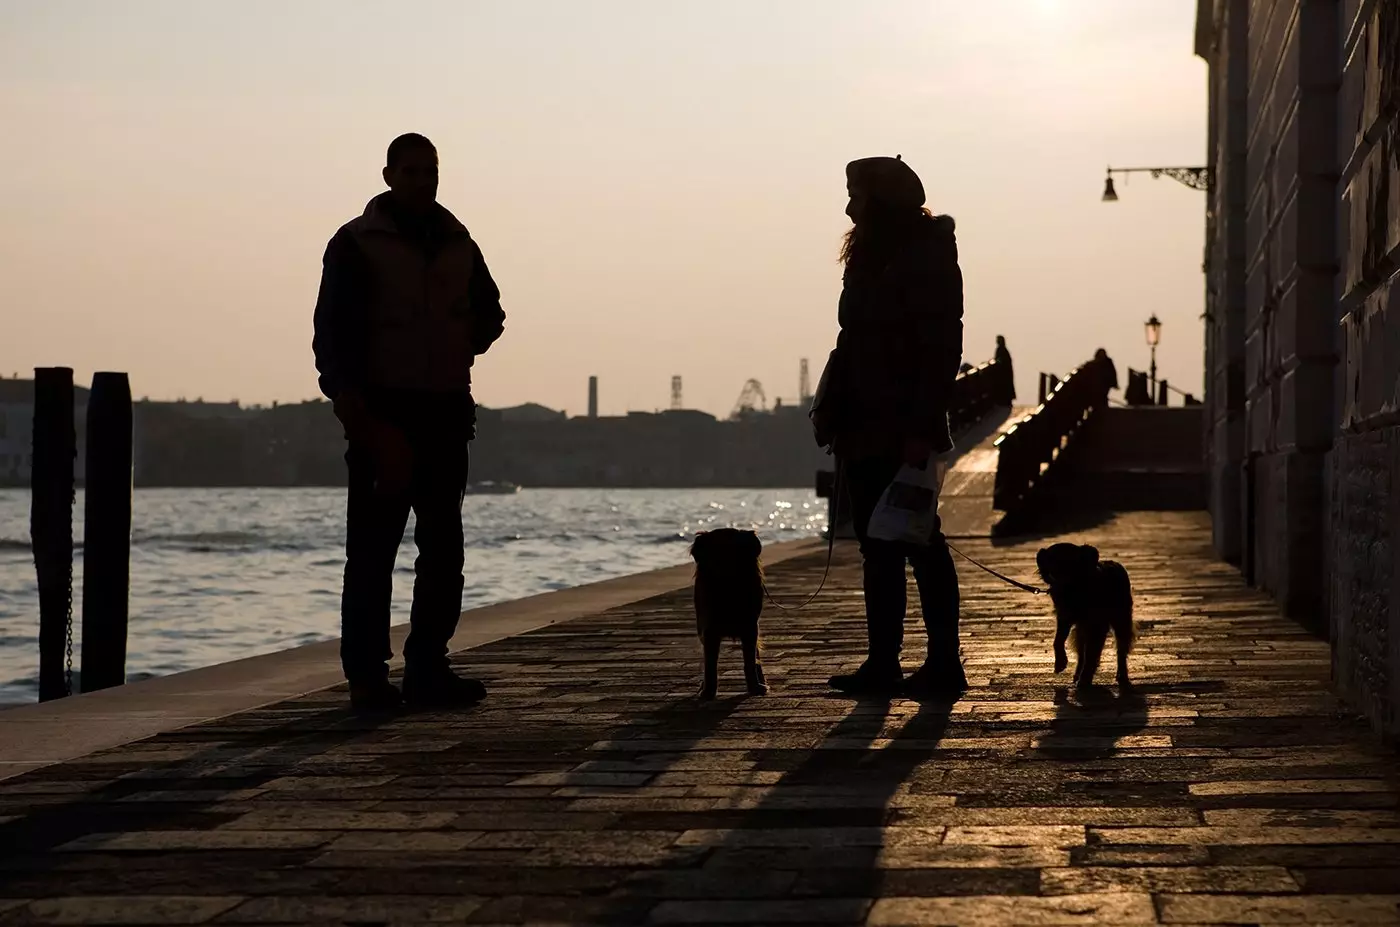
{"type": "Polygon", "coordinates": [[[1049,388],[1044,402],[997,438],[997,479],[991,504],[1021,507],[1095,410],[1109,400],[1109,361],[1089,360],[1049,388]]]}

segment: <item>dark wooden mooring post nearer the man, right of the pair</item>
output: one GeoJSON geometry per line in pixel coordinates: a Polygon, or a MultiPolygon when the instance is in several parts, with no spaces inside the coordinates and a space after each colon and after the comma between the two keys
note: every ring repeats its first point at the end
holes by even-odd
{"type": "Polygon", "coordinates": [[[97,372],[87,409],[83,692],[126,682],[132,569],[132,385],[97,372]]]}

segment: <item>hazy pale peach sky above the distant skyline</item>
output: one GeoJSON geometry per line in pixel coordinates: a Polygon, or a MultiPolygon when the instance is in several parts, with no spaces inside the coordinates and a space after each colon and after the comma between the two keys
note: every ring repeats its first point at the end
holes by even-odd
{"type": "Polygon", "coordinates": [[[316,393],[326,239],[421,132],[505,335],[486,405],[728,413],[836,333],[844,164],[958,220],[965,356],[1018,391],[1103,346],[1201,381],[1191,0],[0,0],[0,372],[137,396],[316,393]]]}

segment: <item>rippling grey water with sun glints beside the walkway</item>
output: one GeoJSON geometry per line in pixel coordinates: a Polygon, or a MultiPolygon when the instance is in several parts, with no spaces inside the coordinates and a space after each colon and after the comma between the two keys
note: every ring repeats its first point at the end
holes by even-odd
{"type": "MultiPolygon", "coordinates": [[[[73,508],[81,543],[83,494],[73,508]]],[[[339,634],[344,492],[137,490],[127,679],[272,653],[339,634]]],[[[819,536],[809,490],[522,490],[469,496],[463,608],[676,566],[696,531],[753,528],[764,543],[819,536]]],[[[395,573],[395,623],[413,584],[413,521],[395,573]]],[[[83,550],[74,553],[80,665],[83,550]]],[[[0,490],[0,704],[38,693],[39,594],[29,493],[0,490]]]]}

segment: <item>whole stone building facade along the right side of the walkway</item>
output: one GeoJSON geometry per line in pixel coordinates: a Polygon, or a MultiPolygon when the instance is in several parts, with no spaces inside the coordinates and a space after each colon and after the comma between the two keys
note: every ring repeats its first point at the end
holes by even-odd
{"type": "Polygon", "coordinates": [[[1400,734],[1400,0],[1200,0],[1221,556],[1400,734]]]}

